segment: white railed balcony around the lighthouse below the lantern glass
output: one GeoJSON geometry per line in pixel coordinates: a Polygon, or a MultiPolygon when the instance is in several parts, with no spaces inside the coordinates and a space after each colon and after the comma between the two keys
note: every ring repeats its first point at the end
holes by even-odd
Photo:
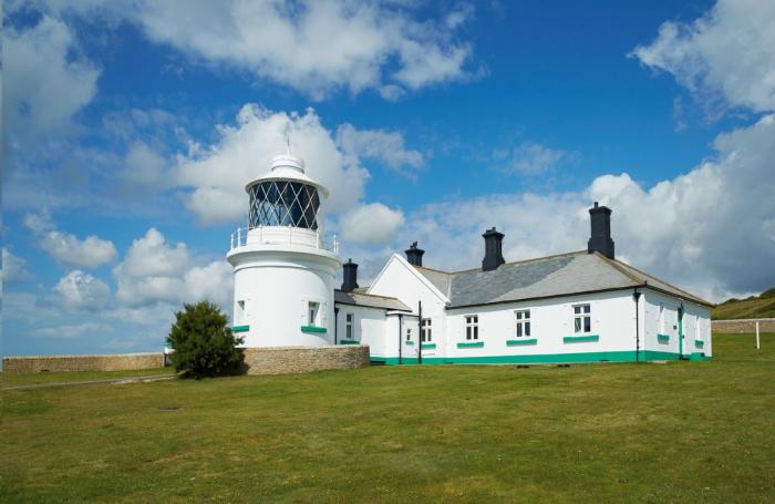
{"type": "Polygon", "coordinates": [[[241,247],[309,247],[328,250],[339,255],[337,236],[326,238],[320,229],[307,229],[293,226],[258,226],[251,229],[238,228],[231,234],[230,250],[241,247]]]}

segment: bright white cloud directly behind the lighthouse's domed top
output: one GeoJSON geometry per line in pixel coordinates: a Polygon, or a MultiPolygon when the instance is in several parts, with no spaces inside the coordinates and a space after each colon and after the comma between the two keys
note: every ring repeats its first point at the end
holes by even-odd
{"type": "Polygon", "coordinates": [[[299,115],[245,105],[236,125],[219,125],[217,130],[220,137],[214,145],[178,157],[178,183],[194,188],[186,195],[186,205],[204,224],[245,217],[245,184],[264,175],[271,158],[285,152],[287,133],[293,154],[307,161],[307,174],[331,191],[328,210],[351,207],[363,192],[369,173],[356,157],[342,155],[311,109],[299,115]]]}

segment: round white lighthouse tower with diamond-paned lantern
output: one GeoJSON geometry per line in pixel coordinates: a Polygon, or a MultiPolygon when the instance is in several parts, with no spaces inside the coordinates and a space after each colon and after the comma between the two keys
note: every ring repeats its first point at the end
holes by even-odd
{"type": "Polygon", "coordinates": [[[323,243],[326,187],[302,160],[276,156],[248,183],[248,228],[231,236],[234,331],[245,347],[333,344],[333,289],[341,266],[335,237],[323,243]]]}

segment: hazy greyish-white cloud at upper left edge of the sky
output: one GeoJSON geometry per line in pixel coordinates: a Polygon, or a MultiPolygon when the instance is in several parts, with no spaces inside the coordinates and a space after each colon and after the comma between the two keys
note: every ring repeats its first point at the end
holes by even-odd
{"type": "Polygon", "coordinates": [[[43,16],[33,27],[3,27],[3,123],[6,134],[68,131],[72,117],[96,93],[100,71],[78,51],[62,21],[43,16]]]}

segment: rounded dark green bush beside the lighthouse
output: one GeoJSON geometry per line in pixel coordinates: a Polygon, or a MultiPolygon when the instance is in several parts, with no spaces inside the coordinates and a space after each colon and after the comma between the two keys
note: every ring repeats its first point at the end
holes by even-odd
{"type": "Polygon", "coordinates": [[[167,337],[175,371],[197,379],[245,372],[242,350],[237,348],[244,341],[234,336],[226,315],[208,301],[184,305],[167,337]]]}

